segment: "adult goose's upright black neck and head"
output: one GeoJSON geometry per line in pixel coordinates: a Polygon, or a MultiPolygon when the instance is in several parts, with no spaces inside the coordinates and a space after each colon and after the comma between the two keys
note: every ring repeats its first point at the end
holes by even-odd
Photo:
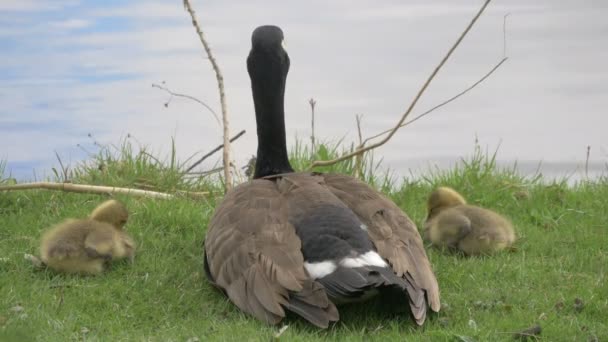
{"type": "Polygon", "coordinates": [[[253,32],[247,58],[255,105],[258,152],[253,178],[293,172],[285,139],[285,81],[289,56],[282,47],[283,33],[276,26],[253,32]]]}

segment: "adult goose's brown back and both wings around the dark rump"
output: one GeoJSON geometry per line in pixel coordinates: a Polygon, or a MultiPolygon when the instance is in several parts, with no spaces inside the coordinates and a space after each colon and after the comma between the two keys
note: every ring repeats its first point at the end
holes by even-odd
{"type": "Polygon", "coordinates": [[[322,328],[337,321],[323,279],[313,279],[305,267],[292,223],[327,205],[351,210],[367,226],[377,252],[402,279],[418,324],[427,305],[439,310],[437,281],[415,225],[377,191],[342,175],[284,174],[231,191],[209,224],[208,277],[241,310],[268,323],[281,321],[284,309],[322,328]]]}

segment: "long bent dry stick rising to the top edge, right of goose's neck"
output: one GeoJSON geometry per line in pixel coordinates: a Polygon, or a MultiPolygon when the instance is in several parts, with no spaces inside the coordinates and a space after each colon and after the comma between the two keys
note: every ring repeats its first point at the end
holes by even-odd
{"type": "Polygon", "coordinates": [[[393,129],[388,133],[388,135],[386,137],[384,137],[384,139],[382,139],[381,141],[379,141],[377,143],[371,144],[368,147],[358,148],[356,151],[354,151],[352,153],[348,153],[348,154],[346,154],[346,155],[344,155],[342,157],[339,157],[339,158],[336,158],[336,159],[333,159],[333,160],[316,160],[308,168],[311,169],[311,168],[313,168],[315,166],[333,165],[335,163],[338,163],[338,162],[341,162],[343,160],[349,159],[349,158],[351,158],[351,157],[353,157],[353,156],[355,156],[357,154],[360,154],[360,153],[363,153],[365,151],[369,151],[369,150],[374,149],[376,147],[382,146],[387,141],[389,141],[393,137],[393,135],[395,134],[395,132],[397,132],[397,130],[399,129],[399,127],[401,127],[401,125],[403,124],[403,122],[405,121],[405,119],[407,118],[407,116],[414,109],[414,106],[416,105],[416,103],[418,102],[418,100],[420,99],[420,97],[422,96],[422,94],[424,93],[424,91],[426,90],[426,88],[429,86],[429,84],[431,83],[431,81],[433,80],[433,78],[435,78],[435,75],[437,75],[437,73],[439,72],[439,70],[441,69],[441,67],[443,67],[443,65],[445,64],[445,62],[447,62],[448,58],[450,58],[450,56],[452,55],[452,53],[454,52],[454,50],[456,50],[456,48],[458,47],[458,45],[460,45],[460,42],[464,39],[464,37],[467,35],[467,33],[471,30],[471,28],[473,27],[473,25],[475,24],[475,22],[477,21],[477,19],[479,19],[479,17],[483,13],[483,11],[486,9],[486,7],[490,3],[490,1],[492,1],[492,0],[486,0],[484,2],[483,6],[481,6],[481,9],[479,9],[479,11],[475,15],[475,17],[473,17],[473,19],[471,20],[471,22],[469,23],[469,25],[467,26],[467,28],[462,32],[462,34],[460,35],[460,37],[458,38],[458,40],[456,41],[456,43],[454,43],[454,45],[450,48],[450,50],[448,51],[448,53],[443,57],[443,59],[441,60],[441,62],[439,63],[439,65],[437,65],[437,67],[435,67],[435,70],[433,70],[433,72],[428,77],[428,79],[426,80],[426,82],[424,82],[422,88],[420,88],[420,90],[418,91],[418,94],[416,94],[416,97],[414,97],[414,100],[410,104],[410,106],[407,109],[407,111],[403,114],[403,116],[401,117],[401,119],[399,120],[399,122],[395,125],[395,127],[393,127],[393,129]]]}

